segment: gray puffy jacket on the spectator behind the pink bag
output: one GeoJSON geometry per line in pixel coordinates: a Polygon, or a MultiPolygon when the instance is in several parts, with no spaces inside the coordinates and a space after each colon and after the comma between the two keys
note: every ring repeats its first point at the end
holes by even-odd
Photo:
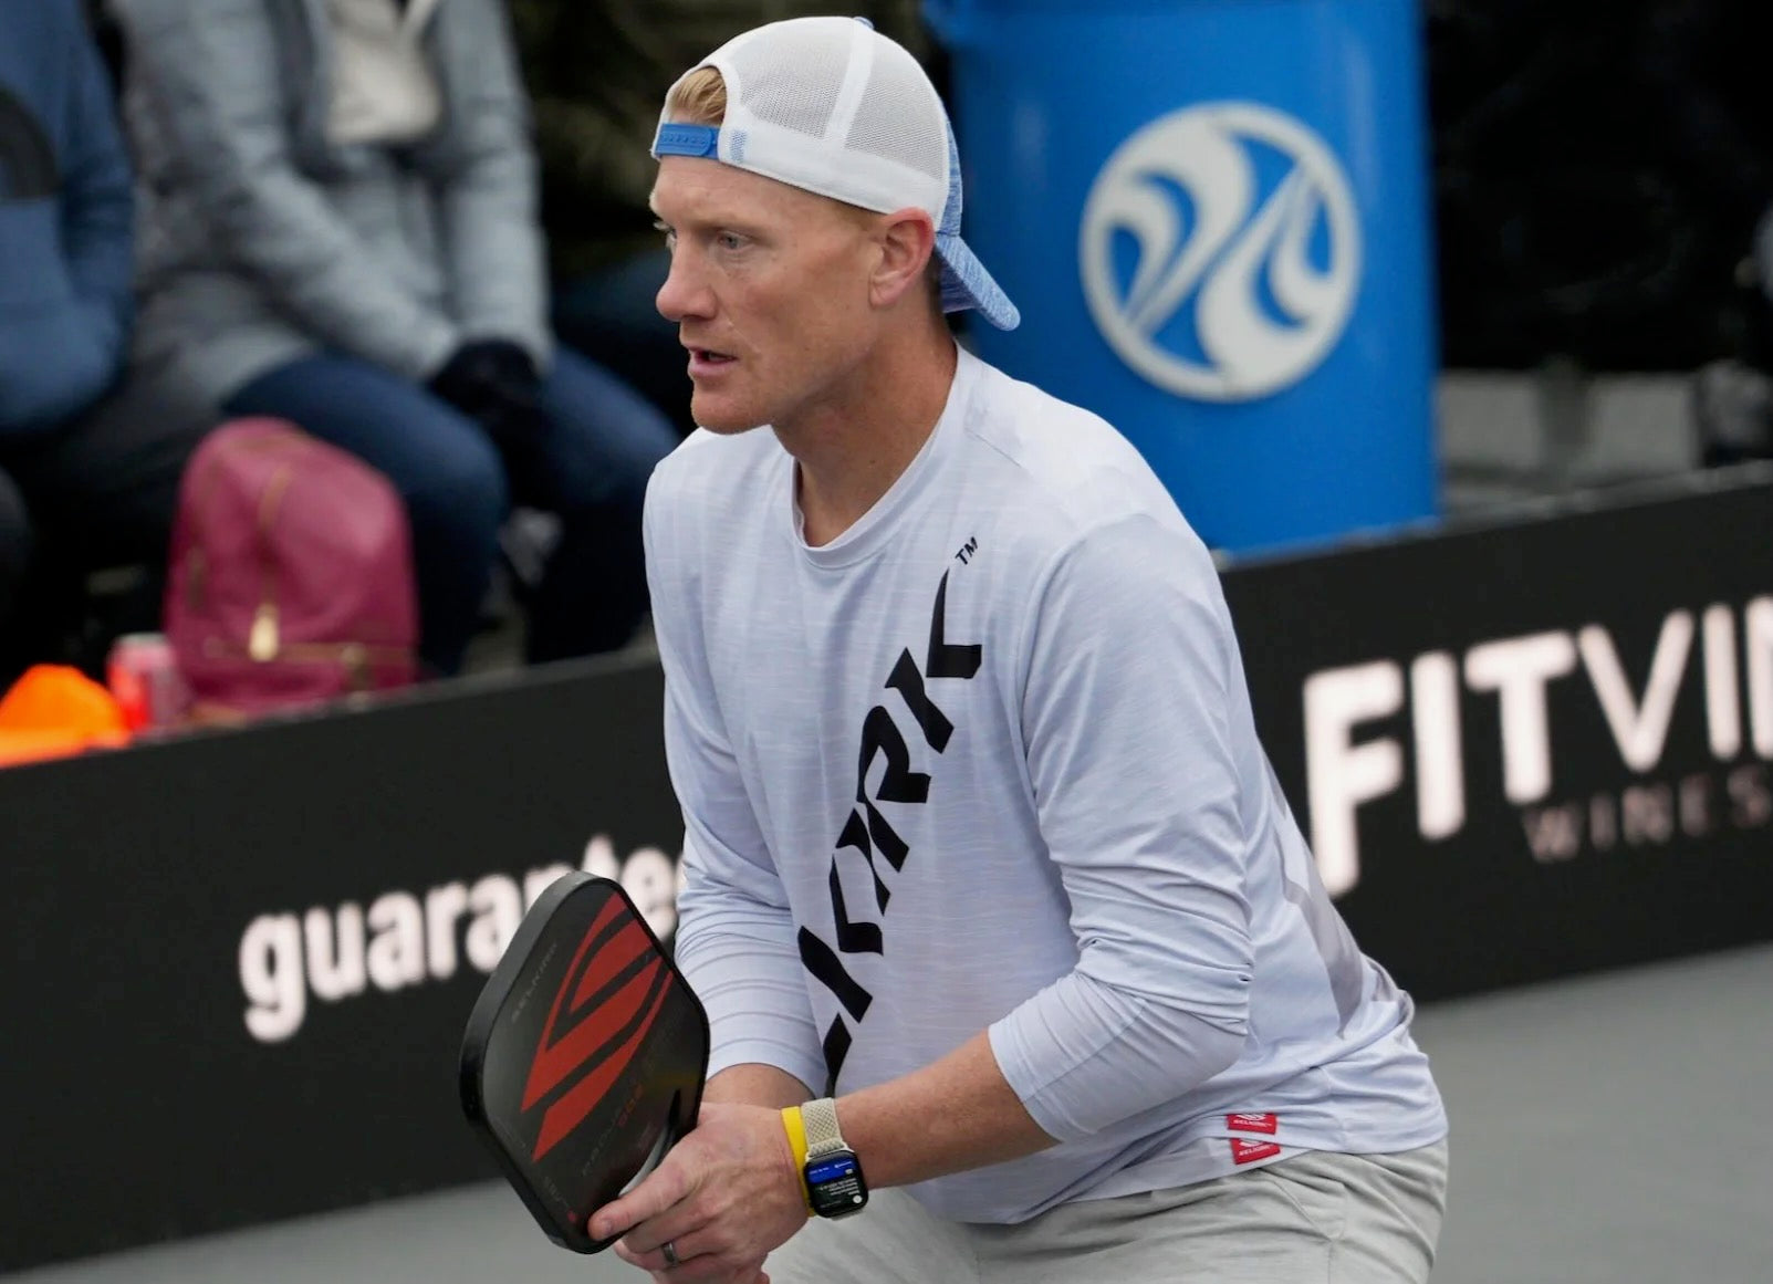
{"type": "Polygon", "coordinates": [[[443,0],[443,121],[335,147],[326,0],[112,0],[140,174],[137,369],[220,404],[319,349],[429,378],[466,339],[546,369],[528,110],[502,0],[443,0]]]}

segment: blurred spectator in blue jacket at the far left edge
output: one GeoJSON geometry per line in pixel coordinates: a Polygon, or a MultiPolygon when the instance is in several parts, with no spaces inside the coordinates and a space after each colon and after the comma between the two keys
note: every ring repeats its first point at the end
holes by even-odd
{"type": "MultiPolygon", "coordinates": [[[[129,342],[129,184],[80,0],[0,0],[0,685],[64,658],[87,571],[163,569],[207,427],[106,395],[129,342]]],[[[151,575],[119,626],[152,626],[156,603],[151,575]]]]}

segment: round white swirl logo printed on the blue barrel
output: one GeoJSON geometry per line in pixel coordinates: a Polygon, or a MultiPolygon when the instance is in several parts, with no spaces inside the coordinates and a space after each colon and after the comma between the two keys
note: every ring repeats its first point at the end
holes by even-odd
{"type": "Polygon", "coordinates": [[[1342,337],[1360,289],[1360,218],[1335,153],[1257,103],[1190,106],[1122,142],[1078,239],[1108,346],[1160,388],[1202,401],[1254,401],[1303,380],[1342,337]]]}

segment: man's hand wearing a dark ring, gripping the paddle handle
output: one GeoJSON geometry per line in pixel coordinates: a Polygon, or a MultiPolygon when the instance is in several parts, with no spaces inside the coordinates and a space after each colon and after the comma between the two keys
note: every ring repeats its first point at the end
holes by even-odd
{"type": "Polygon", "coordinates": [[[695,1130],[645,1181],[599,1208],[590,1233],[622,1234],[617,1256],[668,1284],[768,1284],[764,1257],[805,1224],[782,1112],[706,1101],[695,1130]]]}

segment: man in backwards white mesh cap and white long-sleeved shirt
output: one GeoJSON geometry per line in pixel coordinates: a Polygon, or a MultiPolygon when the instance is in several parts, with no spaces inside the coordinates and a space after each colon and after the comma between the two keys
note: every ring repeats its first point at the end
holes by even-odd
{"type": "Polygon", "coordinates": [[[713,1059],[592,1233],[663,1280],[1425,1279],[1410,1002],[1316,878],[1168,495],[949,337],[1018,314],[915,60],[757,28],[654,151],[702,431],[647,552],[713,1059]]]}

